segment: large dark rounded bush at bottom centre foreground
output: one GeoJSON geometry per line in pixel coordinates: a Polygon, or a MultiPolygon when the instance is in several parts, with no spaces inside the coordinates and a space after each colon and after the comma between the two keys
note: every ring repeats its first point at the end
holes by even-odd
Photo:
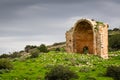
{"type": "Polygon", "coordinates": [[[72,78],[78,78],[78,75],[62,65],[54,66],[45,76],[45,80],[70,80],[72,78]]]}

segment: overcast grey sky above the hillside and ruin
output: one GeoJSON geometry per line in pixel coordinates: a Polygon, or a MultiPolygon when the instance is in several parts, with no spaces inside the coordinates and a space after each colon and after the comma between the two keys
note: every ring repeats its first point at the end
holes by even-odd
{"type": "Polygon", "coordinates": [[[0,54],[65,41],[76,20],[120,26],[120,0],[0,0],[0,54]]]}

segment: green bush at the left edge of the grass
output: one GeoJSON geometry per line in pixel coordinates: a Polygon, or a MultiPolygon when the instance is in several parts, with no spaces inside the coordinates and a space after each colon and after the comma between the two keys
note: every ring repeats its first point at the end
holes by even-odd
{"type": "Polygon", "coordinates": [[[12,69],[13,65],[8,59],[0,59],[0,69],[12,69]]]}

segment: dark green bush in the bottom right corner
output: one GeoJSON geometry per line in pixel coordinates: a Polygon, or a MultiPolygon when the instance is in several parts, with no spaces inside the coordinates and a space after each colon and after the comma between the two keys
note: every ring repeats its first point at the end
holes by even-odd
{"type": "Polygon", "coordinates": [[[106,76],[120,80],[120,66],[109,66],[106,71],[106,76]]]}

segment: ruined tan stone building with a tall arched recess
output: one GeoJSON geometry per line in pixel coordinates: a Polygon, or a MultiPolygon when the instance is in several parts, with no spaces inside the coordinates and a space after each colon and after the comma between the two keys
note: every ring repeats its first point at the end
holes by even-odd
{"type": "Polygon", "coordinates": [[[66,32],[66,51],[108,58],[108,24],[80,19],[66,32]]]}

